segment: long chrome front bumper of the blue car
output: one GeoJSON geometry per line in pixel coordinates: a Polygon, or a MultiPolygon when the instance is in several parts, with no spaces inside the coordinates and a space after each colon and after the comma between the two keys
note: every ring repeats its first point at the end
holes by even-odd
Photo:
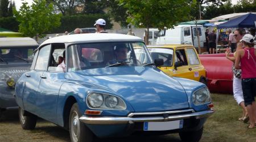
{"type": "MultiPolygon", "coordinates": [[[[212,115],[214,110],[206,110],[199,112],[189,112],[185,114],[172,114],[168,113],[168,116],[137,116],[131,117],[133,115],[129,114],[127,117],[114,117],[114,116],[86,116],[83,115],[79,119],[85,124],[127,124],[128,122],[167,122],[172,120],[188,119],[188,118],[207,118],[212,115]],[[130,116],[130,117],[129,117],[130,116]]],[[[164,113],[162,113],[164,114],[164,113]]]]}

